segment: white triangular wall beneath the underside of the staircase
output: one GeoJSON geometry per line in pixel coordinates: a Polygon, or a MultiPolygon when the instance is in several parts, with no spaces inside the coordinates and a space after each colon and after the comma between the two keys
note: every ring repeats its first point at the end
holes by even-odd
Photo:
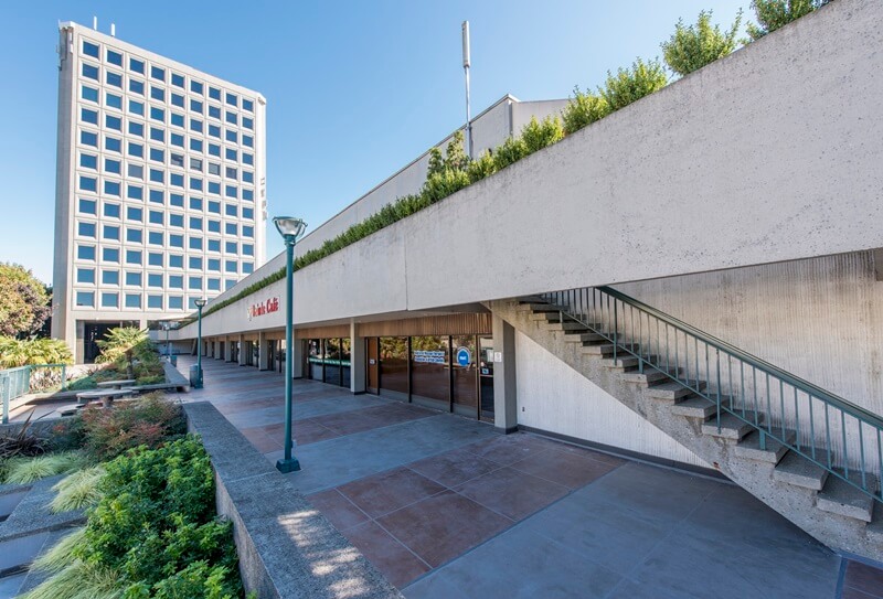
{"type": "Polygon", "coordinates": [[[710,468],[521,332],[515,355],[519,425],[710,468]]]}

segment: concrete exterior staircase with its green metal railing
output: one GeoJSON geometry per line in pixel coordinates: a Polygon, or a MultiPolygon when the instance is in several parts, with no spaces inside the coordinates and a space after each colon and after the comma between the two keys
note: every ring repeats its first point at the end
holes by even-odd
{"type": "Polygon", "coordinates": [[[488,306],[821,543],[883,561],[876,415],[610,288],[488,306]]]}

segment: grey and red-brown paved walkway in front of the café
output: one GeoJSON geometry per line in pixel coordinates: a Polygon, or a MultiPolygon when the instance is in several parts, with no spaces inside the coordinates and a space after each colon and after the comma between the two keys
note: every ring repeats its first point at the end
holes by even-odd
{"type": "MultiPolygon", "coordinates": [[[[275,462],[281,376],[203,367],[188,400],[275,462]]],[[[735,485],[311,381],[294,397],[295,485],[409,598],[883,597],[735,485]]]]}

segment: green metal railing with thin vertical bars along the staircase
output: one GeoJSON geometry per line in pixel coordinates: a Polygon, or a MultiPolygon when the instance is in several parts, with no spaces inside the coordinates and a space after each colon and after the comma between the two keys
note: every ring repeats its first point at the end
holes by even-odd
{"type": "Polygon", "coordinates": [[[542,293],[572,321],[883,503],[883,418],[610,287],[542,293]],[[703,385],[704,382],[704,385],[703,385]],[[873,473],[871,473],[873,472],[873,473]]]}

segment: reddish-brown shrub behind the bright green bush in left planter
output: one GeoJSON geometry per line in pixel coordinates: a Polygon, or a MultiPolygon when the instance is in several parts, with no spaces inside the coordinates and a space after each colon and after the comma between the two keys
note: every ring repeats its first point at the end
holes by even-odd
{"type": "Polygon", "coordinates": [[[187,431],[181,406],[159,393],[119,402],[114,409],[89,406],[82,410],[81,418],[83,447],[98,460],[115,458],[138,446],[153,448],[187,431]]]}

